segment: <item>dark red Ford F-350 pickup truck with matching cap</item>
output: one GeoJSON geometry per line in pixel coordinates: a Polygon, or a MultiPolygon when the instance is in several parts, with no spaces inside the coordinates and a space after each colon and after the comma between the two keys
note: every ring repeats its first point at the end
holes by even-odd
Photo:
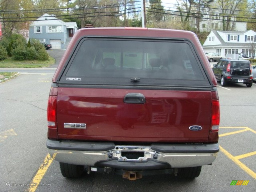
{"type": "Polygon", "coordinates": [[[195,178],[219,151],[217,81],[189,31],[78,30],[52,79],[47,118],[47,148],[65,177],[195,178]]]}

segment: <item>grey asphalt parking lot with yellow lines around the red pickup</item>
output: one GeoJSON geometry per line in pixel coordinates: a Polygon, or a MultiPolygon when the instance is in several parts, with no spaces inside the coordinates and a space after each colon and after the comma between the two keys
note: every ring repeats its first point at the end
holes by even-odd
{"type": "Polygon", "coordinates": [[[119,175],[85,172],[82,178],[67,179],[46,148],[53,73],[54,68],[47,73],[28,70],[0,83],[0,191],[256,191],[255,82],[251,88],[218,83],[220,152],[212,165],[202,167],[198,178],[159,175],[129,181],[119,175]],[[235,182],[238,185],[231,185],[235,182]]]}

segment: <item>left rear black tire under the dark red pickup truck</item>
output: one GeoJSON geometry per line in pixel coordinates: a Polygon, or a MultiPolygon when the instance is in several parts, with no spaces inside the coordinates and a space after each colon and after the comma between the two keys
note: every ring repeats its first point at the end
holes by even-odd
{"type": "Polygon", "coordinates": [[[83,165],[72,165],[60,162],[60,171],[63,177],[78,178],[83,174],[83,165]]]}

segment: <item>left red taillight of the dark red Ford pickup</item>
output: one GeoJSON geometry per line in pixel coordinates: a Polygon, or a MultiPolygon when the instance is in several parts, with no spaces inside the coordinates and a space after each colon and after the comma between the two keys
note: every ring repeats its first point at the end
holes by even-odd
{"type": "Polygon", "coordinates": [[[50,95],[48,99],[48,107],[47,107],[47,121],[48,121],[49,128],[55,128],[57,125],[56,109],[57,109],[57,96],[50,95]]]}

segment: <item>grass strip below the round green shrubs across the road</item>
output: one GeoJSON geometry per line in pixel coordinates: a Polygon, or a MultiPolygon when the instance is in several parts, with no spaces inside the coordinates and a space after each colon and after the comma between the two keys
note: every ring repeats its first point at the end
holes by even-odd
{"type": "Polygon", "coordinates": [[[40,60],[24,60],[18,61],[12,58],[0,61],[0,68],[42,68],[49,67],[55,64],[55,59],[49,56],[46,61],[40,60]]]}

